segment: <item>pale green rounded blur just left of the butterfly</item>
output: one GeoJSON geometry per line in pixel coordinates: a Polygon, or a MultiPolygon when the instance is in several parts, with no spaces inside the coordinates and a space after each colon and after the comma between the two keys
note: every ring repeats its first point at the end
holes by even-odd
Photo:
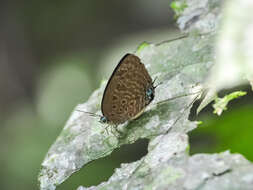
{"type": "Polygon", "coordinates": [[[62,59],[45,69],[37,89],[38,113],[55,125],[64,125],[70,110],[87,99],[96,84],[85,57],[62,59]]]}

